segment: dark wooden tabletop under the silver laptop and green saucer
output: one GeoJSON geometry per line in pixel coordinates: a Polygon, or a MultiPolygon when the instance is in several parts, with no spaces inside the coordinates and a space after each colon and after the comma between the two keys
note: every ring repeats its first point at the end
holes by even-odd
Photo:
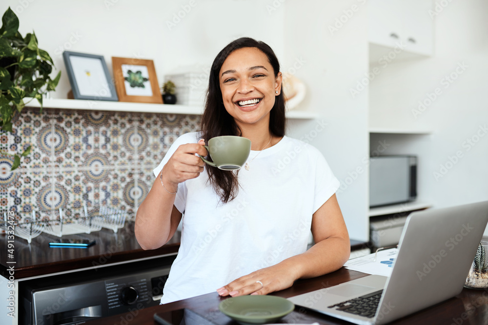
{"type": "MultiPolygon", "coordinates": [[[[366,276],[365,273],[351,271],[341,268],[333,273],[317,278],[299,280],[285,290],[272,293],[272,295],[288,298],[298,294],[331,287],[340,283],[358,279],[366,276]]],[[[486,290],[475,290],[464,288],[454,298],[431,306],[427,309],[416,312],[390,324],[400,325],[441,325],[441,324],[488,324],[488,299],[486,290]],[[457,322],[457,323],[456,323],[457,322]]],[[[219,304],[228,298],[220,297],[217,292],[169,303],[161,306],[154,306],[129,313],[119,314],[111,317],[100,318],[88,321],[87,325],[106,324],[131,324],[131,325],[157,325],[153,319],[155,313],[167,313],[170,311],[188,308],[202,316],[208,323],[214,325],[236,325],[237,323],[225,316],[219,310],[219,304]]],[[[317,298],[319,299],[319,298],[317,298]]],[[[282,318],[278,323],[290,324],[351,324],[346,321],[325,316],[301,306],[282,318]]]]}

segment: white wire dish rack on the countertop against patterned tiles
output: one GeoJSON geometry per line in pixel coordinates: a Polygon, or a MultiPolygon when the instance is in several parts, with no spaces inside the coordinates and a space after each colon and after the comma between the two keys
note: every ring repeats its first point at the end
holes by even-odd
{"type": "Polygon", "coordinates": [[[76,217],[66,217],[65,210],[59,209],[59,219],[39,220],[36,215],[50,214],[51,211],[32,211],[32,221],[27,222],[7,222],[7,213],[4,212],[4,222],[2,228],[8,234],[8,231],[14,229],[17,237],[27,240],[30,244],[32,238],[39,236],[41,232],[53,236],[62,237],[63,235],[73,235],[79,233],[90,233],[99,231],[102,228],[111,229],[117,232],[125,224],[127,212],[105,206],[94,207],[90,211],[86,205],[82,208],[72,208],[71,210],[83,209],[82,212],[76,213],[76,217]],[[13,226],[9,229],[9,226],[13,226]]]}

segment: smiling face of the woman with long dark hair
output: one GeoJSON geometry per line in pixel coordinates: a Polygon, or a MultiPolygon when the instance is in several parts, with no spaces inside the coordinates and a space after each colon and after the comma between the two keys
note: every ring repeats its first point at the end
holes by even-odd
{"type": "Polygon", "coordinates": [[[275,77],[268,58],[255,47],[238,49],[225,59],[219,72],[220,89],[225,110],[238,125],[269,123],[275,96],[281,92],[279,75],[275,77]]]}

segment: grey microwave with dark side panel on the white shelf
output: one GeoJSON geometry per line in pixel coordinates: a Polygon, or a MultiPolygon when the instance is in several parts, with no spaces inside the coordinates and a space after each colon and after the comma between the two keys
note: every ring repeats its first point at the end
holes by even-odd
{"type": "Polygon", "coordinates": [[[369,207],[399,204],[417,197],[417,156],[370,157],[369,207]]]}

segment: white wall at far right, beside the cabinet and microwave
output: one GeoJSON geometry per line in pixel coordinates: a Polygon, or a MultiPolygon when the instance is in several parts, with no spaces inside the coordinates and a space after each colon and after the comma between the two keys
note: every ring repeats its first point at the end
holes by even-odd
{"type": "Polygon", "coordinates": [[[393,62],[370,84],[372,127],[433,130],[388,137],[388,153],[419,154],[419,194],[435,207],[488,199],[487,12],[488,1],[449,2],[434,18],[435,55],[393,62]],[[419,109],[429,96],[431,104],[419,109]],[[467,139],[478,142],[471,146],[467,139]]]}

